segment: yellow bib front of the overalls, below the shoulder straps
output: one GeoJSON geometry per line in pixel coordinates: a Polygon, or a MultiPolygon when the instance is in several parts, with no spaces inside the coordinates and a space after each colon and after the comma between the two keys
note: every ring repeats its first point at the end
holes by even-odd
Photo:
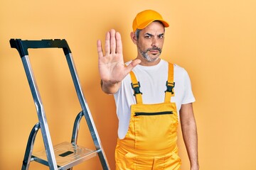
{"type": "Polygon", "coordinates": [[[129,130],[134,132],[135,149],[161,150],[176,143],[175,103],[136,104],[131,112],[129,130]]]}

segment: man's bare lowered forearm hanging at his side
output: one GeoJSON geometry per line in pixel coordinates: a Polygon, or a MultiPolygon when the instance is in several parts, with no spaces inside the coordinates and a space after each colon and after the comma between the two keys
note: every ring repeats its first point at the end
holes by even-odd
{"type": "Polygon", "coordinates": [[[196,129],[196,121],[194,119],[182,123],[181,125],[183,140],[186,145],[186,149],[188,152],[188,158],[191,162],[191,170],[199,169],[198,165],[198,135],[196,129]]]}

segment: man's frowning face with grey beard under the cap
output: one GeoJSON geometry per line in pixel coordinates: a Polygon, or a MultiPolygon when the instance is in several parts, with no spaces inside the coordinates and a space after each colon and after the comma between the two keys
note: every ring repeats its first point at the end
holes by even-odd
{"type": "Polygon", "coordinates": [[[140,31],[139,38],[134,43],[137,44],[139,59],[156,62],[164,45],[164,26],[159,22],[152,22],[140,31]]]}

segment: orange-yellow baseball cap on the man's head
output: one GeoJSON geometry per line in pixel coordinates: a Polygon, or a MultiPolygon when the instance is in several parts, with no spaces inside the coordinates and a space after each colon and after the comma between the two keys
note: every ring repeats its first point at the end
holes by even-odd
{"type": "Polygon", "coordinates": [[[146,26],[149,26],[153,21],[161,21],[161,23],[164,24],[164,27],[169,27],[169,23],[164,21],[160,13],[148,9],[137,14],[132,23],[132,29],[134,32],[137,29],[142,30],[146,28],[146,26]]]}

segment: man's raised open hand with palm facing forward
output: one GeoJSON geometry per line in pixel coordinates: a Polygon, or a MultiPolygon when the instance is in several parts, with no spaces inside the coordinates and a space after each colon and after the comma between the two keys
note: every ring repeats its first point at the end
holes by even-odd
{"type": "Polygon", "coordinates": [[[121,35],[114,29],[106,34],[105,54],[100,40],[97,40],[97,52],[102,90],[107,94],[114,94],[119,89],[122,79],[141,61],[134,60],[127,67],[124,65],[121,35]]]}

